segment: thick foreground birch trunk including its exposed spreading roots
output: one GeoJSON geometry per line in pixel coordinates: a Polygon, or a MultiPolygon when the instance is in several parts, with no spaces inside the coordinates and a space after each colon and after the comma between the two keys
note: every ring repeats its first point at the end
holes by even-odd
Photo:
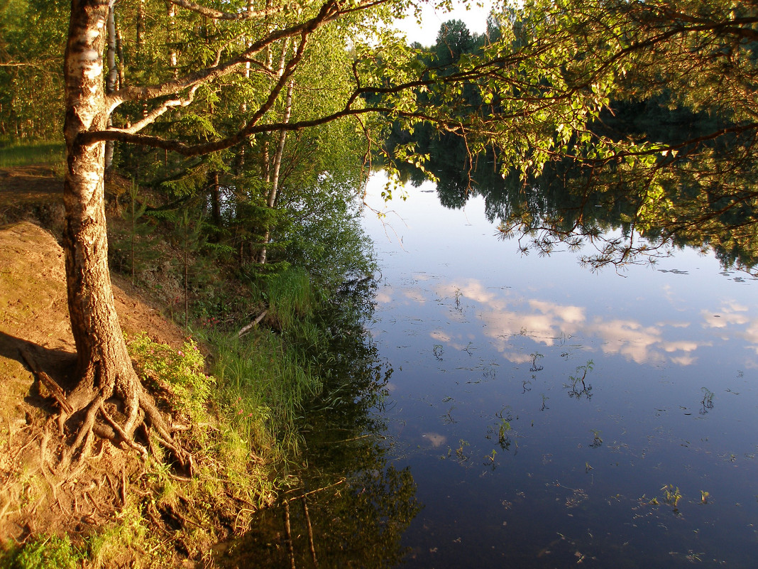
{"type": "MultiPolygon", "coordinates": [[[[80,135],[104,130],[110,109],[104,91],[102,54],[108,35],[108,11],[114,0],[72,0],[64,58],[66,89],[66,224],[63,248],[68,309],[77,347],[77,387],[68,394],[77,425],[63,462],[86,457],[93,429],[119,444],[146,449],[133,439],[147,420],[163,436],[180,463],[185,454],[171,444],[168,426],[143,390],[127,353],[116,313],[108,270],[105,225],[105,143],[83,144],[80,135]]],[[[69,417],[64,417],[67,419],[69,417]]]]}

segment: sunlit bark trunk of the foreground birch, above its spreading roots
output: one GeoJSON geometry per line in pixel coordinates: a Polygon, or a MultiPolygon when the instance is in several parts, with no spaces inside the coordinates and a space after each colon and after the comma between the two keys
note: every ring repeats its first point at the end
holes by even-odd
{"type": "Polygon", "coordinates": [[[108,121],[101,55],[108,8],[108,0],[72,2],[65,56],[67,169],[63,242],[71,329],[82,378],[74,397],[80,401],[72,401],[75,408],[86,406],[99,391],[113,391],[115,382],[130,391],[129,405],[135,404],[136,397],[136,390],[128,387],[136,376],[118,323],[108,272],[105,143],[84,146],[77,140],[87,130],[104,129],[108,121]]]}

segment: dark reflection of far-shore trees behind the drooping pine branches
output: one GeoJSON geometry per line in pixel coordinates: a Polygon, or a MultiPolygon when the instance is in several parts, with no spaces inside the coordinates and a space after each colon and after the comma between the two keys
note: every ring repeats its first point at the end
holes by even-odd
{"type": "MultiPolygon", "coordinates": [[[[725,267],[758,264],[758,141],[751,131],[723,134],[715,119],[631,103],[597,128],[607,136],[660,141],[662,150],[645,151],[643,159],[622,153],[549,162],[524,180],[516,172],[503,177],[491,151],[471,162],[454,134],[424,139],[418,129],[416,138],[430,156],[426,168],[439,178],[440,203],[459,208],[482,196],[490,222],[500,222],[501,236],[517,239],[525,253],[589,245],[581,260],[600,268],[689,246],[713,250],[725,267]]],[[[401,173],[414,185],[423,179],[411,165],[401,173]]]]}

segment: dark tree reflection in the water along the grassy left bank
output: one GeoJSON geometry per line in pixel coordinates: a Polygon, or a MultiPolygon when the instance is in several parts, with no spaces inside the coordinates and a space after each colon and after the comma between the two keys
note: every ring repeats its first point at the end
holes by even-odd
{"type": "Polygon", "coordinates": [[[254,517],[249,533],[217,559],[221,566],[291,566],[283,501],[296,567],[313,567],[314,553],[318,567],[401,561],[400,537],[420,506],[410,471],[387,463],[384,421],[376,413],[393,370],[362,325],[373,311],[375,286],[355,283],[326,316],[332,338],[320,363],[325,395],[306,413],[307,464],[293,469],[298,482],[282,493],[282,503],[254,517]]]}

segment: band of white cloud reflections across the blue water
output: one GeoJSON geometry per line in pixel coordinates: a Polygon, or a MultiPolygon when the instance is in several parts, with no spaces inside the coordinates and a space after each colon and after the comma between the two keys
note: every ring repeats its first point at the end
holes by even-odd
{"type": "MultiPolygon", "coordinates": [[[[434,279],[427,275],[424,280],[434,279]]],[[[530,360],[528,355],[515,349],[514,336],[527,336],[545,346],[565,342],[566,338],[584,338],[583,349],[620,354],[635,363],[689,366],[697,361],[700,348],[713,346],[719,338],[743,338],[758,354],[758,318],[750,319],[748,308],[736,303],[723,303],[715,311],[692,313],[692,322],[677,318],[648,325],[641,319],[619,319],[602,314],[588,316],[587,307],[528,298],[511,289],[487,288],[476,279],[440,284],[431,290],[407,288],[398,293],[419,303],[426,302],[430,296],[438,302],[442,299],[448,307],[455,307],[457,299],[459,310],[452,310],[446,319],[462,319],[458,316],[465,311],[466,319],[481,323],[481,334],[490,338],[493,347],[513,363],[530,360]],[[698,319],[700,326],[693,326],[698,319]],[[688,337],[683,338],[683,334],[688,337]]],[[[377,300],[383,302],[380,297],[377,300]]],[[[471,329],[457,332],[456,328],[437,329],[430,335],[437,344],[465,349],[471,341],[471,329]]]]}

